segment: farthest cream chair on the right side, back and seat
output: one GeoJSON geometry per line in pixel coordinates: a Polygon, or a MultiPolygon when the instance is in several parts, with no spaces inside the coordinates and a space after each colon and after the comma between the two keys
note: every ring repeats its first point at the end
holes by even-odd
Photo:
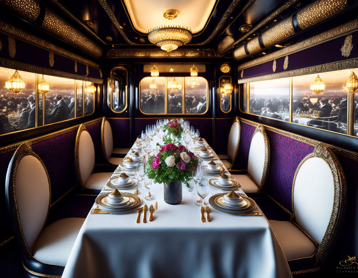
{"type": "Polygon", "coordinates": [[[224,166],[230,170],[235,163],[240,143],[240,119],[236,117],[231,125],[227,143],[227,153],[219,154],[218,157],[224,166]]]}

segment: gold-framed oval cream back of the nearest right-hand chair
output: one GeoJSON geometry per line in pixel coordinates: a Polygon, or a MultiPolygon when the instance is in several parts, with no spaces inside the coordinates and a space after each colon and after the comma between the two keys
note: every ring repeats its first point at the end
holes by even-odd
{"type": "Polygon", "coordinates": [[[296,169],[292,186],[296,223],[319,244],[323,259],[338,235],[345,209],[346,187],[337,157],[322,143],[296,169]]]}

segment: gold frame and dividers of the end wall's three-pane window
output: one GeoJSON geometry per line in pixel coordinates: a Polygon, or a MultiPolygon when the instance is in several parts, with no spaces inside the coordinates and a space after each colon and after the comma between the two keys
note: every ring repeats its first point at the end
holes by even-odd
{"type": "MultiPolygon", "coordinates": [[[[151,76],[145,76],[145,77],[151,77],[151,76]]],[[[180,78],[180,77],[182,78],[182,84],[183,84],[182,85],[182,99],[183,99],[182,113],[168,113],[168,78],[172,78],[173,76],[162,76],[162,77],[165,77],[165,88],[164,88],[165,109],[164,109],[164,113],[145,113],[142,111],[141,106],[140,106],[141,82],[144,79],[144,78],[142,78],[139,81],[139,98],[138,98],[139,111],[142,114],[144,114],[144,115],[204,115],[205,113],[207,113],[207,111],[209,110],[209,82],[205,77],[199,76],[199,77],[202,77],[206,83],[206,110],[203,113],[185,113],[185,78],[192,77],[192,76],[174,76],[175,78],[180,78]]]]}

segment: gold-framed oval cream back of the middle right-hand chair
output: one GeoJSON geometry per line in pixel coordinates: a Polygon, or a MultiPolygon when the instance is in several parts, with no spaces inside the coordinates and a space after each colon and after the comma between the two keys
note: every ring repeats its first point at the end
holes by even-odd
{"type": "Polygon", "coordinates": [[[269,170],[270,145],[267,134],[262,125],[258,125],[253,132],[248,153],[247,173],[256,182],[258,192],[266,183],[269,170]]]}

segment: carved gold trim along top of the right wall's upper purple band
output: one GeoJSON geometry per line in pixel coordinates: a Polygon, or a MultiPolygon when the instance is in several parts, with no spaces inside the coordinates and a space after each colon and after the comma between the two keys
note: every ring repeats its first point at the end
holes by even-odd
{"type": "Polygon", "coordinates": [[[273,53],[266,54],[266,55],[264,55],[262,57],[254,59],[252,61],[248,61],[246,63],[243,63],[243,64],[239,65],[237,69],[240,70],[240,69],[248,68],[248,67],[253,66],[253,65],[259,65],[259,64],[262,64],[262,63],[264,63],[266,61],[270,61],[272,59],[277,59],[277,58],[283,57],[285,55],[289,55],[289,54],[295,53],[297,51],[300,51],[300,50],[303,50],[303,49],[306,49],[306,48],[310,48],[311,46],[318,45],[320,43],[323,43],[326,40],[333,39],[333,38],[338,38],[340,36],[343,36],[344,34],[352,32],[357,28],[358,28],[358,20],[355,19],[355,20],[352,20],[352,21],[350,21],[348,23],[342,24],[342,25],[340,25],[340,26],[338,26],[336,28],[328,30],[328,31],[326,31],[324,33],[321,33],[319,35],[316,35],[316,36],[313,36],[313,37],[311,37],[309,39],[301,41],[300,43],[296,43],[294,45],[286,46],[285,48],[277,50],[277,51],[275,51],[273,53]]]}

